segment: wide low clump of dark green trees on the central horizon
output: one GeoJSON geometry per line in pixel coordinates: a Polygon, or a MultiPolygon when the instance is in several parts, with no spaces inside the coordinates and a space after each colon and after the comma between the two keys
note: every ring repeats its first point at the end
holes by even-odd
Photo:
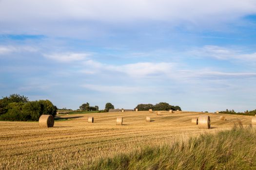
{"type": "Polygon", "coordinates": [[[149,109],[153,110],[181,110],[179,106],[172,106],[167,102],[159,102],[155,105],[153,104],[138,104],[137,107],[139,111],[147,111],[149,109]]]}

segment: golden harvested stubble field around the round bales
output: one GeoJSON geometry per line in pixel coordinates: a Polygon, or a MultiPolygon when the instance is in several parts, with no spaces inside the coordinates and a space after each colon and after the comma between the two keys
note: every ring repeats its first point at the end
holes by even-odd
{"type": "Polygon", "coordinates": [[[157,146],[180,138],[231,129],[240,120],[251,124],[252,117],[178,112],[163,116],[148,111],[66,115],[53,128],[39,128],[38,122],[0,121],[0,169],[77,169],[99,157],[129,153],[146,145],[157,146]],[[191,119],[211,117],[211,129],[198,129],[191,119]],[[154,121],[146,122],[149,116],[154,121]],[[88,123],[94,117],[94,123],[88,123]],[[123,126],[116,126],[123,117],[123,126]],[[122,148],[122,150],[120,150],[122,148]]]}

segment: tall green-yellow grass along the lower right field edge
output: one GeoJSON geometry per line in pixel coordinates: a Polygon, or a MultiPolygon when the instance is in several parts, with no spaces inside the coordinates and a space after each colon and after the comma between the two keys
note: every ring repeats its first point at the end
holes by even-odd
{"type": "Polygon", "coordinates": [[[144,147],[128,154],[100,158],[89,170],[241,170],[256,169],[256,129],[234,126],[187,141],[144,147]]]}

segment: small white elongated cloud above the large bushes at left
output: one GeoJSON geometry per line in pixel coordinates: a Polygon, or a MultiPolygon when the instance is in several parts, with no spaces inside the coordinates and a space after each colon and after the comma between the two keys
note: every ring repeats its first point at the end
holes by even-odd
{"type": "Polygon", "coordinates": [[[90,54],[89,53],[52,53],[43,54],[45,58],[55,60],[58,62],[72,62],[85,60],[90,54]]]}

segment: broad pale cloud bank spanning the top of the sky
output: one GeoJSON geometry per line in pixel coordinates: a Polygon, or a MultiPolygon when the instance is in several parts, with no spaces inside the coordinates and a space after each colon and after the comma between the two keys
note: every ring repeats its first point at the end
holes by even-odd
{"type": "Polygon", "coordinates": [[[255,0],[1,0],[0,32],[85,36],[141,21],[211,28],[255,13],[255,0]]]}

